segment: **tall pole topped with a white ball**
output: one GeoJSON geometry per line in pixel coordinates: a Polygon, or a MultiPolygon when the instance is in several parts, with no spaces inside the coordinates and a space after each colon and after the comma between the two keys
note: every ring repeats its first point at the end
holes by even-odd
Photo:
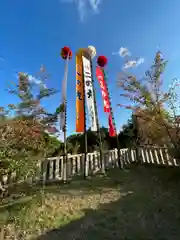
{"type": "Polygon", "coordinates": [[[93,87],[93,93],[94,93],[94,106],[95,106],[95,113],[96,113],[97,133],[99,136],[101,172],[102,172],[102,174],[104,174],[105,173],[105,162],[104,162],[102,137],[101,137],[101,131],[100,131],[100,126],[99,126],[99,120],[98,120],[98,111],[97,111],[97,104],[96,104],[96,94],[95,94],[95,88],[94,88],[94,77],[93,77],[93,66],[92,66],[92,59],[96,56],[96,49],[93,46],[89,46],[88,49],[90,50],[90,53],[91,53],[90,61],[91,61],[91,73],[92,73],[92,87],[93,87]]]}

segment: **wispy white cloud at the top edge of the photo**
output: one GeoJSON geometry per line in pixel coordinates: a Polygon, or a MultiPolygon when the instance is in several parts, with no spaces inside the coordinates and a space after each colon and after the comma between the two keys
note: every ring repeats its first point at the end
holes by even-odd
{"type": "Polygon", "coordinates": [[[89,6],[94,13],[98,13],[99,5],[102,0],[60,0],[61,3],[72,3],[75,4],[80,15],[81,21],[84,20],[89,6]],[[88,6],[89,5],[89,6],[88,6]]]}

